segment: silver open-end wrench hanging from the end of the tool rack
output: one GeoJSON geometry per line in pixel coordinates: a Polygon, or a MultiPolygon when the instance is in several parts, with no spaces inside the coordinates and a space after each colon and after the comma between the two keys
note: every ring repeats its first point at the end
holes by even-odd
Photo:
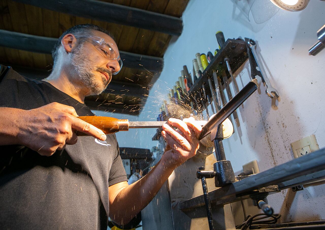
{"type": "Polygon", "coordinates": [[[262,78],[262,82],[266,86],[265,92],[266,92],[267,96],[269,96],[270,98],[273,98],[273,95],[271,94],[271,93],[273,93],[277,98],[279,98],[278,91],[275,88],[272,87],[270,81],[267,78],[267,75],[266,75],[266,72],[265,72],[265,70],[263,68],[263,65],[262,65],[261,61],[259,60],[259,58],[257,56],[255,41],[253,41],[252,39],[247,39],[247,38],[245,38],[245,41],[246,41],[248,47],[250,48],[250,50],[252,51],[253,57],[255,59],[255,63],[254,63],[255,66],[254,65],[252,66],[253,60],[251,60],[251,58],[250,58],[250,64],[251,64],[251,70],[252,70],[252,73],[251,73],[252,78],[255,78],[256,75],[259,75],[262,78]],[[256,69],[256,66],[258,66],[259,71],[256,69]]]}

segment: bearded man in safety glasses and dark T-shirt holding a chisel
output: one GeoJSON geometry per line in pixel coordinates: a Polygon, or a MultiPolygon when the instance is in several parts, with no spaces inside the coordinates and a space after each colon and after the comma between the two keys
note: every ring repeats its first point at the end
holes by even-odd
{"type": "Polygon", "coordinates": [[[44,81],[0,65],[0,226],[106,229],[108,216],[127,224],[196,154],[201,126],[169,119],[178,132],[163,126],[162,159],[128,185],[115,135],[77,118],[94,115],[85,96],[101,93],[122,67],[115,41],[102,28],[78,25],[61,35],[52,55],[44,81]]]}

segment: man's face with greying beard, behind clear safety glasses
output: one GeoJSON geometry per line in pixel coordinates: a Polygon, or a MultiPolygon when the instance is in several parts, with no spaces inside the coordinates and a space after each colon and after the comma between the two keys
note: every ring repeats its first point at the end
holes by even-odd
{"type": "MultiPolygon", "coordinates": [[[[115,53],[120,55],[116,43],[110,36],[97,30],[93,31],[92,35],[105,39],[115,53]]],[[[112,73],[120,70],[117,60],[105,58],[99,47],[87,39],[78,43],[72,49],[71,55],[71,63],[77,77],[89,90],[86,96],[98,95],[103,92],[112,79],[112,73]]]]}

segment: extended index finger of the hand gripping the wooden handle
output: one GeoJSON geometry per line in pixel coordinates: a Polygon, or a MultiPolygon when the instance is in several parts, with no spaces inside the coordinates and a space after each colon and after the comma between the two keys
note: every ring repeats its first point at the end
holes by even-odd
{"type": "Polygon", "coordinates": [[[75,129],[79,132],[83,132],[87,135],[93,136],[101,141],[106,140],[106,135],[103,131],[100,129],[96,128],[95,126],[79,119],[79,118],[71,118],[71,126],[72,129],[75,129]]]}

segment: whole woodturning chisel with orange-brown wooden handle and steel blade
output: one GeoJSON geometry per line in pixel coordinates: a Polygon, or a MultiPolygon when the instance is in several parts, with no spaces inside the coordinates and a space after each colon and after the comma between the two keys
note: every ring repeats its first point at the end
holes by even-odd
{"type": "MultiPolygon", "coordinates": [[[[117,119],[113,117],[99,116],[80,116],[79,119],[86,121],[89,124],[102,130],[105,134],[115,133],[119,131],[128,131],[129,129],[149,129],[161,128],[163,124],[168,124],[168,121],[129,121],[128,119],[117,119]]],[[[198,125],[203,126],[206,121],[195,121],[198,125]]],[[[85,135],[78,132],[77,135],[85,135]]]]}

